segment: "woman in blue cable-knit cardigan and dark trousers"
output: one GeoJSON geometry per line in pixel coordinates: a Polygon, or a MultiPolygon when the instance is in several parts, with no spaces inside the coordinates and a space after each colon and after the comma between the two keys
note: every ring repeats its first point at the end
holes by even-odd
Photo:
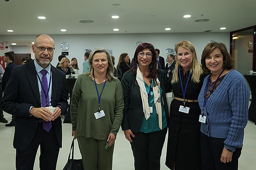
{"type": "Polygon", "coordinates": [[[198,96],[202,170],[237,170],[248,118],[249,88],[244,77],[233,70],[233,58],[223,43],[209,43],[201,64],[205,73],[211,73],[198,96]]]}

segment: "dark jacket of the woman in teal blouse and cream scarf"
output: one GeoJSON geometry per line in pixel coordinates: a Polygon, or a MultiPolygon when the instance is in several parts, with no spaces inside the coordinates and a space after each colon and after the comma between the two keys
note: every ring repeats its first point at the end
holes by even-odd
{"type": "MultiPolygon", "coordinates": [[[[163,103],[167,122],[169,122],[168,106],[166,102],[166,93],[170,91],[167,87],[166,73],[163,70],[157,70],[160,86],[163,90],[163,103]]],[[[141,122],[144,116],[140,87],[135,84],[136,76],[132,71],[128,71],[122,78],[122,87],[124,92],[124,115],[122,120],[122,130],[131,129],[132,132],[140,130],[141,122]]]]}

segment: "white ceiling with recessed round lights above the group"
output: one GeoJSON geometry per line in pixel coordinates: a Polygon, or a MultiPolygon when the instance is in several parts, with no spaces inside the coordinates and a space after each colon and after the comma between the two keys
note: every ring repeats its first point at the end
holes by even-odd
{"type": "Polygon", "coordinates": [[[230,32],[254,25],[256,0],[0,0],[0,35],[230,32]]]}

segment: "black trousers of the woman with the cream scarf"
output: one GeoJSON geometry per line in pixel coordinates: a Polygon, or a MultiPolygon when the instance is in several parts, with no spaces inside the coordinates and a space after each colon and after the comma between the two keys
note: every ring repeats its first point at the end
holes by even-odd
{"type": "Polygon", "coordinates": [[[163,150],[167,127],[151,133],[134,133],[131,149],[135,170],[160,170],[160,157],[163,150]]]}

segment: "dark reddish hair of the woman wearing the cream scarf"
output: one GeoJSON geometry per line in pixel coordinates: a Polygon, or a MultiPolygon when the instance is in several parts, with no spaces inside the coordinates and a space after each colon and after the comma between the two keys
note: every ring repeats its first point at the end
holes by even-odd
{"type": "Polygon", "coordinates": [[[144,49],[149,49],[152,53],[152,61],[151,64],[148,66],[149,68],[149,77],[151,78],[157,78],[157,57],[156,57],[156,51],[152,44],[144,42],[138,45],[134,52],[134,58],[132,63],[131,71],[134,75],[137,74],[137,64],[138,64],[138,53],[140,51],[143,51],[144,49]]]}

